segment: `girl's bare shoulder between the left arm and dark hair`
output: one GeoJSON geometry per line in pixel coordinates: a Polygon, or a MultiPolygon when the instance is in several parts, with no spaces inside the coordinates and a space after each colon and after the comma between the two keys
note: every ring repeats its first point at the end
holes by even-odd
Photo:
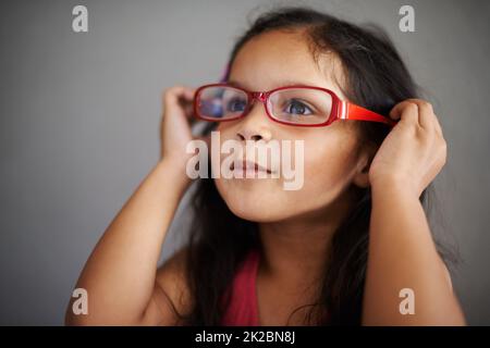
{"type": "Polygon", "coordinates": [[[180,315],[192,309],[186,279],[187,248],[177,250],[157,270],[155,289],[145,322],[157,325],[180,325],[180,315]],[[180,315],[179,315],[180,314],[180,315]]]}

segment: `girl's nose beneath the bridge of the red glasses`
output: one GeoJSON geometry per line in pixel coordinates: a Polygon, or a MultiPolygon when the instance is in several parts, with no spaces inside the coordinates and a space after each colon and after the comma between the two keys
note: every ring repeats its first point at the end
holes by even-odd
{"type": "Polygon", "coordinates": [[[240,140],[269,141],[271,139],[271,122],[266,114],[264,101],[260,99],[259,101],[261,102],[254,102],[248,114],[241,120],[236,132],[240,140]]]}

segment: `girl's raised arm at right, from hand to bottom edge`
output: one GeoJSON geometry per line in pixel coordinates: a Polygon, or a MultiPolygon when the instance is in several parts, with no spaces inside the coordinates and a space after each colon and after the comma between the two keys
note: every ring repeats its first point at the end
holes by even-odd
{"type": "Polygon", "coordinates": [[[448,270],[439,257],[419,201],[445,162],[445,142],[430,104],[395,107],[402,119],[371,163],[369,256],[363,308],[365,325],[464,325],[448,270]],[[379,157],[378,157],[379,156],[379,157]],[[399,297],[413,289],[415,314],[402,314],[399,297]]]}

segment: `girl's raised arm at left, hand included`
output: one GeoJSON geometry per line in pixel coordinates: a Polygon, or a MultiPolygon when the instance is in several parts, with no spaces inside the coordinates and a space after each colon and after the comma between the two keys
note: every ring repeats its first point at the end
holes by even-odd
{"type": "Polygon", "coordinates": [[[163,159],[140,183],[91,252],[76,284],[88,293],[88,314],[75,315],[70,302],[66,324],[157,324],[173,318],[171,307],[162,300],[167,290],[162,286],[172,286],[169,279],[177,268],[168,262],[157,274],[157,263],[167,229],[189,183],[182,151],[191,140],[191,132],[177,103],[185,92],[175,87],[166,92],[163,159]],[[168,136],[169,129],[174,139],[168,136]]]}

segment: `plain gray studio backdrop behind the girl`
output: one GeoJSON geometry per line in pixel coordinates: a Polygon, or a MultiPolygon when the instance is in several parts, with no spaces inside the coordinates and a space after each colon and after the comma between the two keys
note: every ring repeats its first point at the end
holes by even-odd
{"type": "MultiPolygon", "coordinates": [[[[490,324],[488,1],[1,1],[0,324],[61,325],[93,247],[159,156],[161,91],[221,75],[247,17],[309,4],[373,22],[436,105],[438,176],[468,321],[490,324]],[[88,33],[72,10],[88,9],[88,33]],[[415,33],[399,10],[415,9],[415,33]]],[[[180,209],[162,260],[182,241],[180,209]]]]}

